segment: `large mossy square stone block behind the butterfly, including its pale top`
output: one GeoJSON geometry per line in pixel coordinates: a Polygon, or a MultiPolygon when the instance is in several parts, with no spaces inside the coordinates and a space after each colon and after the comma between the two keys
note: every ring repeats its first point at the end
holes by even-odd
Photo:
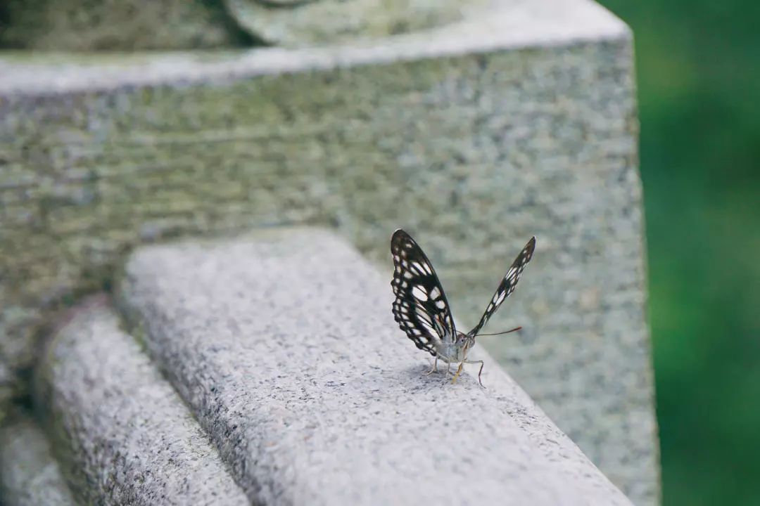
{"type": "Polygon", "coordinates": [[[364,45],[0,67],[0,391],[23,389],[50,308],[107,287],[136,244],[316,223],[390,269],[403,226],[473,325],[535,234],[530,283],[487,330],[530,325],[483,341],[656,501],[632,46],[597,5],[517,2],[364,45]]]}

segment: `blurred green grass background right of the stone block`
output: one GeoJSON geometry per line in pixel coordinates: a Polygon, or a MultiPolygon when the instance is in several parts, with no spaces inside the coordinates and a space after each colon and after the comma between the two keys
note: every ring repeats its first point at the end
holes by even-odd
{"type": "Polygon", "coordinates": [[[663,504],[760,504],[760,2],[633,29],[663,504]]]}

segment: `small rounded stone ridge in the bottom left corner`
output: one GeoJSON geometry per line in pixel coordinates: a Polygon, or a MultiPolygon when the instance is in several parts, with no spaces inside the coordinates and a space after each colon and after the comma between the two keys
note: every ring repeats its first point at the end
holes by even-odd
{"type": "Polygon", "coordinates": [[[74,506],[43,432],[17,415],[0,429],[0,502],[5,506],[74,506]]]}

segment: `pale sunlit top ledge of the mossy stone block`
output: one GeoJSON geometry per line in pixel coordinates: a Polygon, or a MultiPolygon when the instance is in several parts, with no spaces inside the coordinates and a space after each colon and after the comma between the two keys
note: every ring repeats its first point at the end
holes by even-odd
{"type": "Polygon", "coordinates": [[[131,86],[213,83],[288,72],[445,58],[525,47],[629,39],[628,27],[595,2],[494,2],[459,23],[350,44],[242,52],[121,55],[0,53],[0,97],[49,96],[131,86]]]}

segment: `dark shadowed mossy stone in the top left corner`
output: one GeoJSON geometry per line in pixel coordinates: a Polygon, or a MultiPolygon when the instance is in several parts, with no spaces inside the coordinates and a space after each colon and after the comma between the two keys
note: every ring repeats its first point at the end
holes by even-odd
{"type": "Polygon", "coordinates": [[[221,0],[3,0],[0,48],[134,51],[249,43],[221,0]]]}

